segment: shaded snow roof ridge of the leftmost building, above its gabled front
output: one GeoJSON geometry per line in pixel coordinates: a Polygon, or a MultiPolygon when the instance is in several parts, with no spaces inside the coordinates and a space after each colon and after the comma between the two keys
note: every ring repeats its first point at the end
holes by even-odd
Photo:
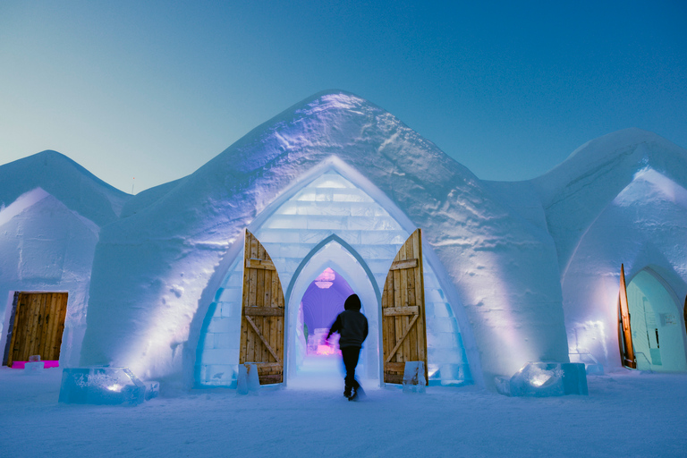
{"type": "Polygon", "coordinates": [[[0,165],[0,207],[37,188],[98,226],[116,220],[131,197],[51,149],[0,165]]]}

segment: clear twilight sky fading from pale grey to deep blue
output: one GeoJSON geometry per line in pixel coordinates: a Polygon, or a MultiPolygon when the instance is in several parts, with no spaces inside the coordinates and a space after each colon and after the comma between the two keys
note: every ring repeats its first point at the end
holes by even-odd
{"type": "Polygon", "coordinates": [[[0,164],[55,149],[135,192],[344,89],[486,180],[627,127],[687,147],[687,2],[0,3],[0,164]]]}

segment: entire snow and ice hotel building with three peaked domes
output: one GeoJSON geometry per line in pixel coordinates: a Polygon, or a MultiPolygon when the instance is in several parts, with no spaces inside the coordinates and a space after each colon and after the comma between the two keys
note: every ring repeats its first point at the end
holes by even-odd
{"type": "Polygon", "coordinates": [[[135,196],[55,152],[0,177],[4,364],[190,387],[233,386],[255,361],[288,383],[355,292],[380,383],[405,360],[430,384],[487,387],[528,361],[687,369],[687,151],[648,131],[487,182],[328,91],[135,196]]]}

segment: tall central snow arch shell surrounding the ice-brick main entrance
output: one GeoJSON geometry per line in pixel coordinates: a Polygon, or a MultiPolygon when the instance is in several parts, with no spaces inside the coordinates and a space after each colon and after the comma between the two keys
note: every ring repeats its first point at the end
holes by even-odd
{"type": "Polygon", "coordinates": [[[81,363],[129,366],[169,383],[185,372],[192,385],[199,328],[233,242],[276,199],[327,166],[350,171],[395,216],[423,229],[445,267],[437,275],[459,298],[452,306],[478,384],[482,373],[490,384],[529,360],[567,360],[556,247],[541,225],[502,205],[392,114],[327,91],[260,125],[174,186],[134,197],[123,209],[130,216],[103,229],[81,363]]]}

